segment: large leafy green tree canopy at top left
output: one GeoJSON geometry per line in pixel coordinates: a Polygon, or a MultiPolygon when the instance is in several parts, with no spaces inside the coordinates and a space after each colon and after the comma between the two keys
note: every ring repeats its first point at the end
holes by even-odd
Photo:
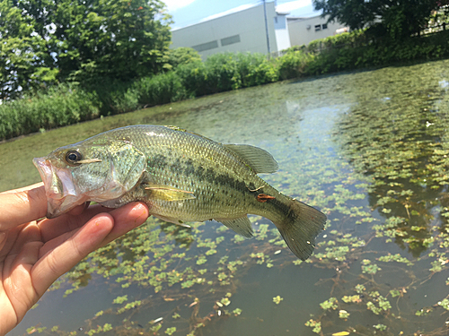
{"type": "Polygon", "coordinates": [[[159,73],[170,23],[160,0],[0,0],[0,99],[53,82],[159,73]]]}

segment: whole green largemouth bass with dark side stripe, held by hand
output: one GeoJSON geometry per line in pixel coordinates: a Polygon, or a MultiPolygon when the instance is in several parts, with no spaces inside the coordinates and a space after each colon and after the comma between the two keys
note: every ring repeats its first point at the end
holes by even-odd
{"type": "Polygon", "coordinates": [[[120,127],[33,163],[45,186],[49,219],[88,201],[109,208],[139,201],[160,220],[216,220],[251,238],[248,214],[255,214],[271,220],[302,260],[313,253],[327,220],[259,177],[278,169],[268,151],[215,142],[176,126],[120,127]]]}

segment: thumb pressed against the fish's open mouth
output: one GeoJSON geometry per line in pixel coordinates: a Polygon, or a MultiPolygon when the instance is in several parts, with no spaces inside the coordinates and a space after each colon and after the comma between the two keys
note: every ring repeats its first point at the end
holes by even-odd
{"type": "Polygon", "coordinates": [[[30,185],[21,191],[2,193],[0,204],[0,232],[31,220],[39,220],[47,213],[47,197],[43,185],[30,185]]]}

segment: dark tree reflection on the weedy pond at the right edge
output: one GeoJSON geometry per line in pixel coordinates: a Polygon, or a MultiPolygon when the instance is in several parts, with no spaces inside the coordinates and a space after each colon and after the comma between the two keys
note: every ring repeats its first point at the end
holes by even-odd
{"type": "MultiPolygon", "coordinates": [[[[388,86],[384,77],[375,85],[388,86]]],[[[373,178],[369,203],[387,219],[379,234],[418,257],[430,245],[434,210],[445,198],[446,92],[437,81],[395,85],[380,100],[376,88],[365,88],[341,116],[338,132],[351,164],[373,178]]]]}

